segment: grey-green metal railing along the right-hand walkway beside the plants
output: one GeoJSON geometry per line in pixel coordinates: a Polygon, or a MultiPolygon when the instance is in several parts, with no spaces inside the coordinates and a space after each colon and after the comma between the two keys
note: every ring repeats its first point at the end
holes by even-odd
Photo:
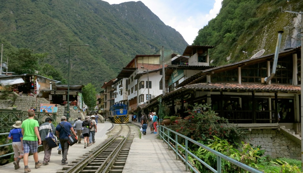
{"type": "Polygon", "coordinates": [[[197,159],[201,164],[205,165],[207,168],[209,168],[212,172],[215,172],[215,173],[221,173],[221,158],[225,159],[226,161],[234,164],[234,165],[237,165],[238,167],[240,168],[243,168],[244,170],[246,171],[249,171],[249,172],[252,172],[252,173],[262,173],[261,171],[258,171],[257,169],[255,168],[251,168],[249,167],[248,165],[245,165],[241,162],[238,162],[226,155],[223,155],[221,154],[220,152],[217,152],[193,139],[190,139],[184,135],[181,135],[180,133],[177,133],[171,129],[168,129],[164,126],[159,126],[159,136],[160,138],[163,140],[163,142],[166,142],[167,145],[168,145],[168,149],[172,149],[175,153],[176,153],[176,160],[178,160],[178,158],[181,158],[182,161],[185,163],[185,168],[186,168],[186,171],[188,171],[188,167],[190,167],[192,169],[193,172],[199,172],[198,170],[196,170],[196,168],[194,168],[191,163],[188,161],[188,156],[192,156],[194,157],[195,159],[197,159]],[[166,132],[164,132],[166,130],[166,132]],[[171,138],[170,135],[175,135],[175,139],[171,138]],[[178,143],[178,139],[179,137],[185,139],[185,147],[183,147],[180,143],[178,143]],[[175,146],[172,146],[171,143],[174,143],[175,146]],[[208,165],[207,163],[205,163],[204,161],[202,161],[200,158],[198,158],[196,155],[194,155],[193,153],[191,153],[189,150],[188,150],[188,142],[192,142],[196,145],[198,145],[199,147],[202,147],[203,149],[206,149],[207,151],[215,154],[217,156],[217,170],[215,170],[214,168],[212,168],[210,165],[208,165]],[[185,151],[185,158],[178,152],[178,147],[181,147],[182,149],[184,149],[185,151]]]}

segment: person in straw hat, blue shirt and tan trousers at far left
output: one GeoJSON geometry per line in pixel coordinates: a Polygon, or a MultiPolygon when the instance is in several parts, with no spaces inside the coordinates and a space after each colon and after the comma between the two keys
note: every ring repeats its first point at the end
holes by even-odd
{"type": "Polygon", "coordinates": [[[16,121],[15,124],[13,125],[14,129],[11,129],[9,131],[7,139],[12,139],[12,147],[14,150],[14,166],[15,169],[21,168],[19,165],[20,160],[23,158],[24,155],[24,150],[23,150],[23,135],[22,135],[22,130],[21,130],[21,121],[16,121]]]}

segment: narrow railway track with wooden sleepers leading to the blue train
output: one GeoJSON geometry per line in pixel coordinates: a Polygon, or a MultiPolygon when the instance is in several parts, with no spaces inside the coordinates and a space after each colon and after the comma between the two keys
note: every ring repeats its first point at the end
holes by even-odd
{"type": "Polygon", "coordinates": [[[93,151],[76,159],[72,164],[57,173],[118,173],[122,172],[132,144],[133,135],[130,126],[120,124],[120,130],[93,151]]]}

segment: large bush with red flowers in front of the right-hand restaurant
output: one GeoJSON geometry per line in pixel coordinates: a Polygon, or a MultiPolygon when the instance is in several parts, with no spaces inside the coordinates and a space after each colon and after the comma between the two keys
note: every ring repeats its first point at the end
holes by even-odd
{"type": "Polygon", "coordinates": [[[228,123],[228,120],[219,117],[208,104],[195,104],[188,110],[188,116],[175,121],[178,127],[176,132],[181,133],[195,141],[206,141],[218,136],[227,139],[228,142],[238,142],[239,138],[246,134],[246,130],[240,129],[228,123]]]}

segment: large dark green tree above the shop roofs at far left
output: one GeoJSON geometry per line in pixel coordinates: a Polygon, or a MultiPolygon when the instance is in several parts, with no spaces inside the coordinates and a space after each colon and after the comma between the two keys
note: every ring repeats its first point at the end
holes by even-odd
{"type": "Polygon", "coordinates": [[[41,69],[39,60],[46,56],[47,53],[33,54],[32,50],[19,49],[17,52],[8,54],[10,60],[9,69],[15,72],[15,74],[37,73],[41,69]]]}

